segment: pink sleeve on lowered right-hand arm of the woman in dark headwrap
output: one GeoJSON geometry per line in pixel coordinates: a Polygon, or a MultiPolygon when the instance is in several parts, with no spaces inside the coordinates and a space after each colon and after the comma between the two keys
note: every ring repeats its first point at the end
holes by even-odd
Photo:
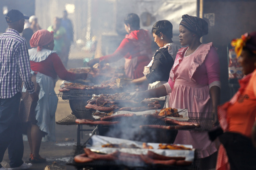
{"type": "Polygon", "coordinates": [[[215,47],[211,47],[204,61],[208,76],[208,84],[220,81],[220,61],[215,47]]]}

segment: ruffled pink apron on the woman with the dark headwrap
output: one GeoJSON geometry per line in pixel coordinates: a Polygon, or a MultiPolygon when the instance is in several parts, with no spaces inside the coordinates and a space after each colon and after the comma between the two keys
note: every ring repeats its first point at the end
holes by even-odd
{"type": "MultiPolygon", "coordinates": [[[[194,52],[195,53],[195,52],[194,52]]],[[[197,84],[189,75],[191,63],[197,55],[193,53],[183,57],[180,65],[174,73],[176,79],[170,95],[170,107],[184,109],[189,112],[203,113],[212,111],[212,101],[210,99],[210,89],[208,84],[197,84]]],[[[195,72],[196,74],[196,72],[195,72]]],[[[199,73],[200,74],[200,73],[199,73]]],[[[219,142],[212,142],[207,131],[178,131],[174,143],[191,144],[198,151],[197,158],[205,158],[217,151],[219,142]]]]}

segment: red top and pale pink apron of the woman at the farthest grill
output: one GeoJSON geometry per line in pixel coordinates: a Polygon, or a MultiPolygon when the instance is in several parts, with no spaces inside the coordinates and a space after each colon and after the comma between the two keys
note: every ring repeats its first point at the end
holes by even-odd
{"type": "Polygon", "coordinates": [[[149,31],[144,29],[132,31],[129,35],[126,35],[113,54],[101,57],[100,61],[116,61],[122,57],[125,58],[124,70],[128,78],[143,77],[144,66],[147,66],[152,58],[149,31]]]}

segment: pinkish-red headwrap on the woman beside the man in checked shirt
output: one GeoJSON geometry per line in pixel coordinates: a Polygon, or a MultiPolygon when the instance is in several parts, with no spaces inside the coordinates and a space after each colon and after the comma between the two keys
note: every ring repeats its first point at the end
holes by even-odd
{"type": "Polygon", "coordinates": [[[34,33],[29,41],[31,47],[37,47],[37,51],[41,51],[44,45],[53,41],[53,31],[49,32],[40,29],[34,33]]]}

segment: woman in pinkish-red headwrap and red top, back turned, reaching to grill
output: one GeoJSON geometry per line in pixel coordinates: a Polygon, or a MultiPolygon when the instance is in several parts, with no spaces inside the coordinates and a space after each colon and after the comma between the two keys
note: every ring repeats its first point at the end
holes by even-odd
{"type": "Polygon", "coordinates": [[[58,97],[54,91],[57,76],[63,80],[86,79],[87,74],[74,74],[68,72],[54,48],[54,33],[47,30],[38,30],[30,39],[29,49],[31,70],[34,71],[32,80],[36,84],[39,94],[37,104],[27,97],[28,93],[22,94],[20,116],[27,128],[27,137],[30,147],[29,160],[33,163],[41,163],[46,160],[39,155],[42,137],[46,140],[55,141],[55,111],[58,97]],[[29,107],[27,107],[29,106],[29,107]]]}

